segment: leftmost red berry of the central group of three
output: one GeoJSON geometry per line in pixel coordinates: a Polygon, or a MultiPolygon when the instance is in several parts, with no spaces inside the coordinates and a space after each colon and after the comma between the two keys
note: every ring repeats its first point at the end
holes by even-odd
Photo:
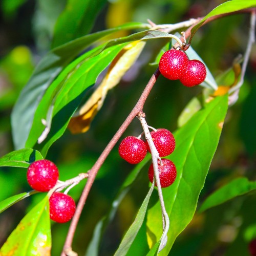
{"type": "Polygon", "coordinates": [[[139,163],[146,156],[146,142],[134,136],[128,136],[121,141],[118,152],[121,158],[127,162],[139,163]]]}

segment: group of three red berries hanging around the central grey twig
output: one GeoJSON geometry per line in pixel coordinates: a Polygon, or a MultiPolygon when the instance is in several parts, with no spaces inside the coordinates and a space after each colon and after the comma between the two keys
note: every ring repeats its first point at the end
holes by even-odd
{"type": "MultiPolygon", "coordinates": [[[[170,131],[157,129],[151,132],[151,137],[159,153],[159,157],[165,157],[173,153],[175,139],[170,131]]],[[[134,136],[124,138],[118,148],[121,158],[132,164],[141,162],[145,158],[147,151],[151,153],[148,143],[134,136]]],[[[174,183],[177,172],[175,164],[172,161],[168,159],[158,160],[158,170],[161,187],[168,187],[174,183]]],[[[153,182],[153,164],[148,169],[148,178],[153,182]]]]}

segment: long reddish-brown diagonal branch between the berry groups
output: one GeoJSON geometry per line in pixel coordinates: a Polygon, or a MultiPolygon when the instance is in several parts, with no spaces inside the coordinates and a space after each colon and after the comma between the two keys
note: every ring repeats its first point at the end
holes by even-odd
{"type": "Polygon", "coordinates": [[[78,224],[83,206],[86,203],[87,197],[89,195],[89,192],[90,192],[90,189],[93,185],[93,182],[96,178],[98,170],[101,167],[101,165],[103,164],[103,162],[105,161],[106,157],[108,157],[112,148],[115,146],[117,141],[120,139],[120,137],[122,136],[124,131],[127,129],[129,124],[143,110],[143,106],[145,104],[145,101],[146,101],[148,95],[150,94],[151,89],[153,88],[159,74],[160,74],[159,69],[157,69],[156,72],[154,73],[154,75],[148,81],[144,91],[142,92],[142,94],[141,94],[139,100],[137,101],[136,105],[134,106],[132,112],[129,114],[129,116],[127,116],[127,118],[122,123],[122,125],[120,126],[120,128],[118,129],[118,131],[116,132],[114,137],[111,139],[109,144],[105,147],[104,151],[101,153],[98,160],[95,162],[95,164],[93,165],[93,167],[89,171],[89,178],[88,178],[88,181],[86,183],[86,186],[84,187],[84,189],[82,191],[82,195],[80,197],[80,200],[77,204],[76,212],[75,212],[74,217],[71,221],[69,232],[67,234],[66,242],[65,242],[65,245],[63,247],[63,251],[62,251],[61,256],[72,254],[72,246],[71,245],[72,245],[72,241],[73,241],[73,238],[74,238],[74,233],[75,233],[75,230],[76,230],[76,227],[77,227],[77,224],[78,224]]]}

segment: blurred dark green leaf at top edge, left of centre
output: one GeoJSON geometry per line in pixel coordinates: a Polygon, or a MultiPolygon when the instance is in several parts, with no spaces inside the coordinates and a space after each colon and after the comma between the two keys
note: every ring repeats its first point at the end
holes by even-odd
{"type": "Polygon", "coordinates": [[[86,35],[106,0],[69,0],[55,25],[52,48],[86,35]]]}

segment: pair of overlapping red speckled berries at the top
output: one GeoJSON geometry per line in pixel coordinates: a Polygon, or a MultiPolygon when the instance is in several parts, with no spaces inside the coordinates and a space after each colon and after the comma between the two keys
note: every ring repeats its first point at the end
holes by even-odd
{"type": "Polygon", "coordinates": [[[170,80],[180,79],[186,87],[197,86],[206,77],[206,68],[200,60],[189,60],[183,51],[178,50],[169,50],[162,55],[159,71],[170,80]]]}

